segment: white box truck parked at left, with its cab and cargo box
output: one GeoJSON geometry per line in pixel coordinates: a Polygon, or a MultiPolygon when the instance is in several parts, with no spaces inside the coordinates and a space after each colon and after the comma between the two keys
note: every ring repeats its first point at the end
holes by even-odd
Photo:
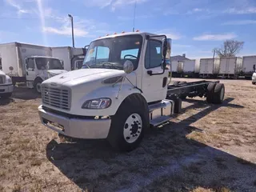
{"type": "Polygon", "coordinates": [[[62,61],[51,56],[50,47],[18,42],[0,45],[2,71],[12,78],[14,85],[26,82],[27,87],[34,88],[38,93],[44,80],[66,72],[62,61]]]}

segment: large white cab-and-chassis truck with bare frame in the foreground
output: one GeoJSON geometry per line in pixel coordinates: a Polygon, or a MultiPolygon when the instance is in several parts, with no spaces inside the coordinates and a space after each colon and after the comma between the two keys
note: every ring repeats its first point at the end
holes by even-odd
{"type": "Polygon", "coordinates": [[[181,111],[178,96],[221,103],[222,83],[168,85],[170,44],[166,35],[143,32],[94,40],[81,70],[42,82],[42,124],[68,137],[106,138],[114,149],[129,151],[150,126],[162,125],[181,111]]]}

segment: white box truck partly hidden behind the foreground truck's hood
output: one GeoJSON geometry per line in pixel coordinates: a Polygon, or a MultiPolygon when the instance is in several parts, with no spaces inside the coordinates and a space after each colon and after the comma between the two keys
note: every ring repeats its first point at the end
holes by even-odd
{"type": "Polygon", "coordinates": [[[63,61],[64,70],[78,70],[82,67],[85,48],[70,46],[52,47],[52,56],[63,61]]]}

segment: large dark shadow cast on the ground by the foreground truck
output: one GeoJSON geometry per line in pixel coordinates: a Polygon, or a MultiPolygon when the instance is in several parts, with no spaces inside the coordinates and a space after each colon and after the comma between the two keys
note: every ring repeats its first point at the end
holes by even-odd
{"type": "MultiPolygon", "coordinates": [[[[222,150],[186,138],[202,131],[192,122],[219,107],[237,107],[227,98],[181,122],[155,128],[138,149],[114,152],[106,141],[57,143],[46,147],[47,158],[82,190],[190,191],[198,186],[219,190],[256,191],[256,166],[222,150]]],[[[192,102],[189,99],[188,102],[192,102]]],[[[202,108],[206,102],[196,102],[202,108]]]]}

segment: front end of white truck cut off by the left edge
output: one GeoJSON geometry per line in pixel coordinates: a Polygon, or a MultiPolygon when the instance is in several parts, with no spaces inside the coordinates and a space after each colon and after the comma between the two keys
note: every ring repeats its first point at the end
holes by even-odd
{"type": "Polygon", "coordinates": [[[13,90],[11,78],[0,70],[0,98],[10,98],[13,90]]]}

